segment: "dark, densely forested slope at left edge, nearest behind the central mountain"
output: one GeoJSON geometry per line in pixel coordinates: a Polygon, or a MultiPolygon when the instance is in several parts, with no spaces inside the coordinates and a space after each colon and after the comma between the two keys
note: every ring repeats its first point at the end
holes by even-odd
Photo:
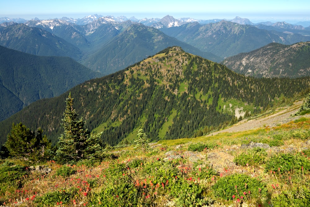
{"type": "Polygon", "coordinates": [[[0,46],[0,120],[42,98],[100,77],[69,57],[35,56],[0,46]]]}

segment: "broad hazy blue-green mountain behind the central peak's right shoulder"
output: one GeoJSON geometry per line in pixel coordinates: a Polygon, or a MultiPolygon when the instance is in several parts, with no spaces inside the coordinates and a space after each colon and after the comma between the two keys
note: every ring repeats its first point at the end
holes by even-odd
{"type": "Polygon", "coordinates": [[[310,36],[258,29],[251,25],[221,21],[200,25],[198,22],[162,28],[165,34],[211,52],[222,58],[250,52],[269,43],[293,44],[310,41],[310,36]]]}

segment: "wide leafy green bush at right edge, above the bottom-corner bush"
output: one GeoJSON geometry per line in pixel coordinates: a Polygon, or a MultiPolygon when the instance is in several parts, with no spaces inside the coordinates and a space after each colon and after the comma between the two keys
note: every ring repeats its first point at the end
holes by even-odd
{"type": "Polygon", "coordinates": [[[275,172],[277,174],[287,173],[309,173],[310,161],[302,153],[273,155],[266,163],[265,172],[275,172]]]}

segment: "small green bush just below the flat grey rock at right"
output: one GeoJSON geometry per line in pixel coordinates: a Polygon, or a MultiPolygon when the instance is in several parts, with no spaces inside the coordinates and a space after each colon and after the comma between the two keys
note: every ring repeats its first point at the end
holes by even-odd
{"type": "Polygon", "coordinates": [[[240,166],[246,166],[246,164],[259,166],[265,163],[266,156],[266,149],[254,148],[235,156],[233,161],[240,166]]]}

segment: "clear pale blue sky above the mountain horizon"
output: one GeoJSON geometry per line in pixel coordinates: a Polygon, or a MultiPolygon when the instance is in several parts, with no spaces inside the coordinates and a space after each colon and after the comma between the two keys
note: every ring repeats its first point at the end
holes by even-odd
{"type": "Polygon", "coordinates": [[[197,20],[233,19],[236,16],[260,21],[310,21],[308,0],[1,0],[0,17],[39,19],[83,18],[92,14],[135,16],[137,19],[175,19],[191,17],[197,20]]]}

